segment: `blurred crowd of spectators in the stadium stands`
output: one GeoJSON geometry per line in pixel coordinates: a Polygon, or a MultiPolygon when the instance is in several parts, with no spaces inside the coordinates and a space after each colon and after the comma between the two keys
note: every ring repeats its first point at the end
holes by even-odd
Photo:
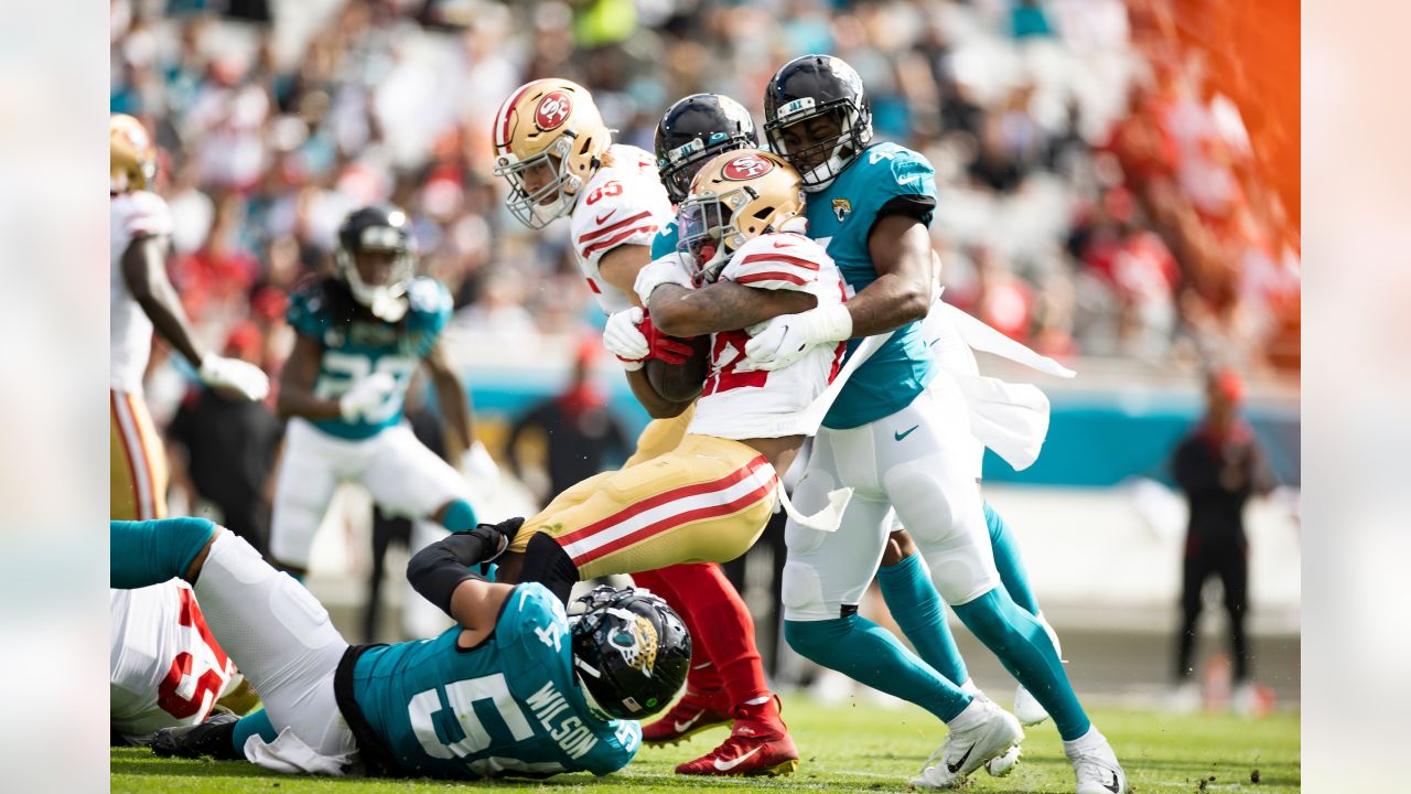
{"type": "Polygon", "coordinates": [[[650,150],[677,97],[725,93],[762,123],[770,73],[831,52],[878,136],[935,164],[947,300],[1048,355],[1297,377],[1297,174],[1278,161],[1297,129],[1223,45],[1261,3],[1218,6],[113,0],[111,110],[157,134],[190,318],[271,373],[286,294],[381,199],[413,216],[461,329],[532,355],[601,322],[567,225],[529,233],[491,177],[516,85],[579,81],[650,150]]]}

